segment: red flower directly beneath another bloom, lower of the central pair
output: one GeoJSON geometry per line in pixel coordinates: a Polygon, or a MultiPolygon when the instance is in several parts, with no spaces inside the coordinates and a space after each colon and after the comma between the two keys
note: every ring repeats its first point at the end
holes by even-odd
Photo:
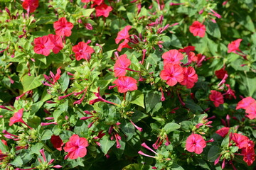
{"type": "Polygon", "coordinates": [[[119,93],[137,90],[137,80],[132,77],[118,77],[114,80],[113,84],[117,84],[119,93]]]}

